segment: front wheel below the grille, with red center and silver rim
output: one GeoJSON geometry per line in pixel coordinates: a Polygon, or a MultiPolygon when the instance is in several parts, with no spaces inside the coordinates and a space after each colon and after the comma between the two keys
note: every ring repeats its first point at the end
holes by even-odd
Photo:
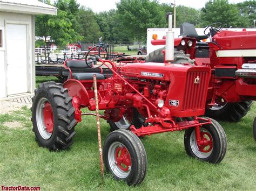
{"type": "Polygon", "coordinates": [[[186,153],[190,157],[212,164],[218,164],[223,160],[226,153],[227,140],[221,125],[212,119],[211,124],[201,126],[200,137],[206,141],[206,145],[199,149],[194,128],[185,131],[184,145],[186,153]]]}

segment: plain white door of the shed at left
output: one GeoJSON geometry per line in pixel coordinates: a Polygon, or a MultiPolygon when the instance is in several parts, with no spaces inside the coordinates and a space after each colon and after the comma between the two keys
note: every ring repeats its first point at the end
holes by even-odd
{"type": "Polygon", "coordinates": [[[26,25],[6,25],[7,95],[28,92],[28,56],[26,25]]]}

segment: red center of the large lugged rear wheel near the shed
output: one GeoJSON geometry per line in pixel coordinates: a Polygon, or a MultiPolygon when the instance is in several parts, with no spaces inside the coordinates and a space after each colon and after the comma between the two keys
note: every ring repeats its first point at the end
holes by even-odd
{"type": "Polygon", "coordinates": [[[45,130],[48,133],[52,133],[52,131],[53,131],[53,114],[52,114],[52,107],[49,102],[45,102],[43,114],[44,114],[44,124],[45,124],[45,128],[46,128],[45,130]]]}

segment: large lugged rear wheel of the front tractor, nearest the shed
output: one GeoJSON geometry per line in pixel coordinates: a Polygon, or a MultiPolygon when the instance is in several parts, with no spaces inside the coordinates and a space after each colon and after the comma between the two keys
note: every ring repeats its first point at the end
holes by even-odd
{"type": "Polygon", "coordinates": [[[61,83],[45,82],[35,90],[32,105],[33,131],[39,146],[64,150],[75,136],[75,109],[68,89],[61,83]]]}

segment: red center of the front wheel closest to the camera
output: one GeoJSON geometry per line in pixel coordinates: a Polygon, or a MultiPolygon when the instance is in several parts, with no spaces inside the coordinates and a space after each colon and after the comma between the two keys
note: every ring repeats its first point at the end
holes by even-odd
{"type": "Polygon", "coordinates": [[[129,151],[125,146],[119,146],[116,149],[116,162],[117,166],[122,169],[122,171],[129,171],[131,167],[131,156],[129,151]]]}

